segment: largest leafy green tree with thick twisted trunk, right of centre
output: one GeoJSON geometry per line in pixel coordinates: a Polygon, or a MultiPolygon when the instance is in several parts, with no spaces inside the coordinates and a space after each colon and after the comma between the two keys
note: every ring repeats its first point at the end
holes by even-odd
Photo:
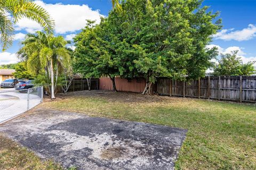
{"type": "Polygon", "coordinates": [[[144,94],[157,77],[203,77],[217,55],[205,47],[221,21],[213,22],[218,13],[201,6],[197,0],[129,0],[121,12],[111,12],[107,22],[118,37],[121,77],[145,77],[144,94]]]}

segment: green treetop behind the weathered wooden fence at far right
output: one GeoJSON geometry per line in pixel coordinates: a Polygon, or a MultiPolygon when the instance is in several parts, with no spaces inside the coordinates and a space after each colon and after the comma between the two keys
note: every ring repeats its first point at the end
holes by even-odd
{"type": "Polygon", "coordinates": [[[237,56],[238,51],[231,54],[221,54],[218,64],[214,67],[213,75],[252,75],[255,72],[253,64],[249,62],[243,64],[241,57],[237,56]]]}

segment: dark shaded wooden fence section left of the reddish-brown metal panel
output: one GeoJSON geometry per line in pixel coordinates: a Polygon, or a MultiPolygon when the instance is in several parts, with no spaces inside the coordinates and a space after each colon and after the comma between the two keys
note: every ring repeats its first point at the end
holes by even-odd
{"type": "MultiPolygon", "coordinates": [[[[89,90],[86,79],[72,80],[68,92],[89,90]]],[[[91,90],[99,90],[99,79],[91,79],[91,90]]]]}

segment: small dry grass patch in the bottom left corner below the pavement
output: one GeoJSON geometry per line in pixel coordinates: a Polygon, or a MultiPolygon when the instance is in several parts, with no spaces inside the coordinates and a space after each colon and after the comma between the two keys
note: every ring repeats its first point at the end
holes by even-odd
{"type": "Polygon", "coordinates": [[[33,152],[0,134],[0,169],[62,169],[52,160],[42,161],[33,152]]]}

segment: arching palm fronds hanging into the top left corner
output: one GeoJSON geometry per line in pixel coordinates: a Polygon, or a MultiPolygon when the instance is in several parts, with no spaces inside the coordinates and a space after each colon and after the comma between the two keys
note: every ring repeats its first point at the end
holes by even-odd
{"type": "Polygon", "coordinates": [[[3,50],[12,44],[13,24],[21,18],[38,22],[46,32],[52,32],[54,29],[50,15],[32,0],[0,0],[0,33],[3,50]]]}

